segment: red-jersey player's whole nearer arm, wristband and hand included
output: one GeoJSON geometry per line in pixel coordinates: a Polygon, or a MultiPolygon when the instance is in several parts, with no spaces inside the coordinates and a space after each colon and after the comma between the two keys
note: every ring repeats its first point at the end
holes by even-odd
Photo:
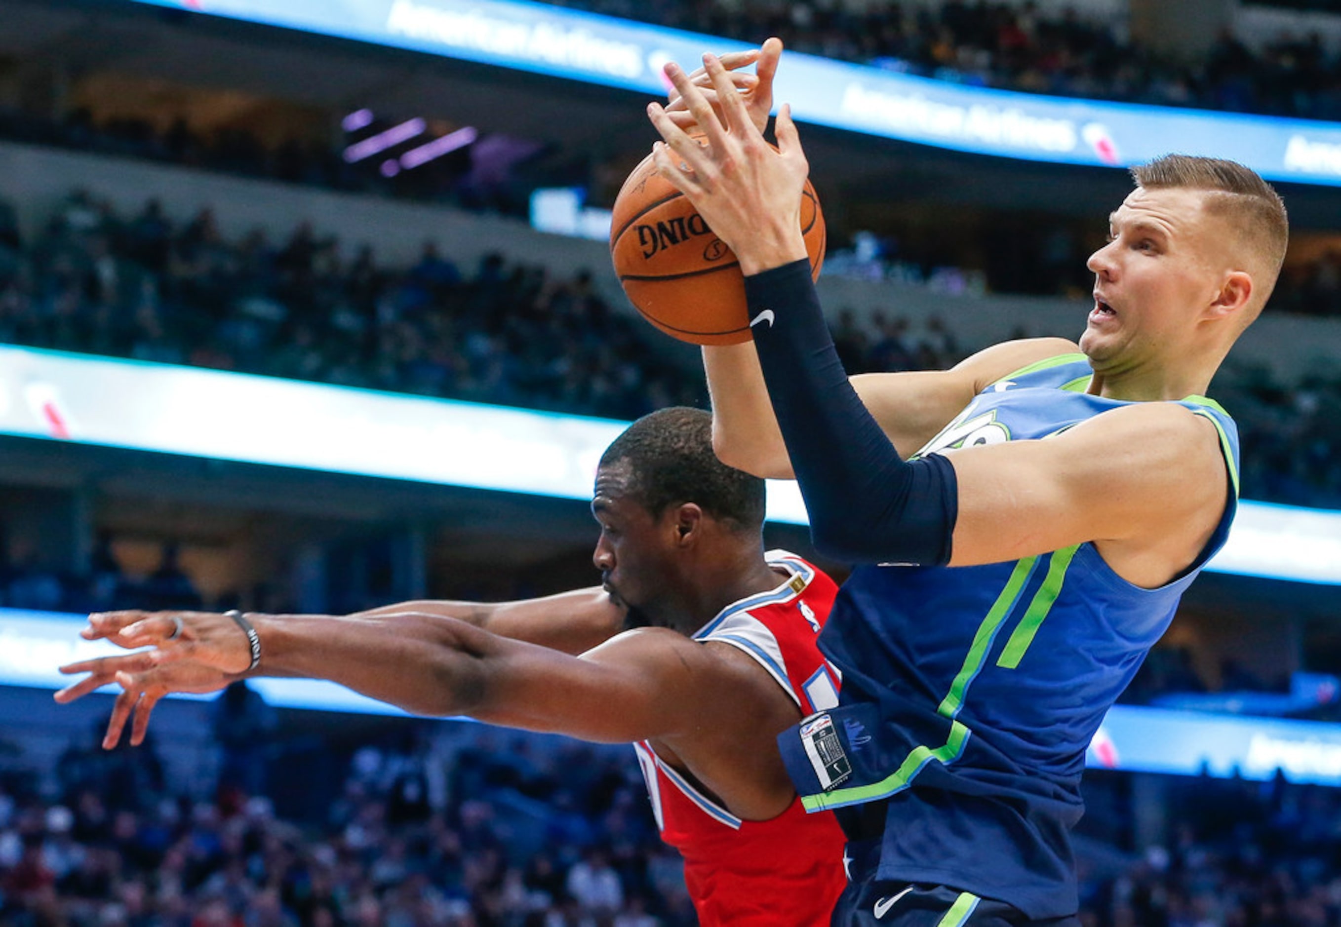
{"type": "MultiPolygon", "coordinates": [[[[692,734],[705,719],[717,718],[723,704],[740,703],[750,724],[756,724],[770,706],[767,699],[750,704],[750,692],[759,690],[756,671],[658,628],[625,632],[574,657],[432,614],[251,614],[248,620],[261,653],[251,675],[327,679],[420,715],[469,715],[589,741],[628,742],[692,734]],[[756,675],[743,675],[750,672],[756,675]],[[750,681],[742,686],[742,680],[750,681]]],[[[156,649],[62,667],[62,672],[87,676],[58,694],[59,702],[70,702],[109,681],[126,688],[109,730],[110,745],[143,695],[157,700],[196,684],[194,676],[176,675],[178,667],[208,667],[236,679],[251,664],[248,639],[228,616],[148,614],[118,633],[129,647],[154,643],[156,649]],[[181,631],[176,631],[178,620],[181,631]]],[[[771,694],[775,684],[764,688],[771,694]]],[[[133,739],[138,742],[148,720],[135,722],[133,739]]]]}

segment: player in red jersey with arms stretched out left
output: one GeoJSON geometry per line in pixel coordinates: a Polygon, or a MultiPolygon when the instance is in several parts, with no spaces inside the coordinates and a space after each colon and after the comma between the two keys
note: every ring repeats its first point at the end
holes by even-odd
{"type": "Polygon", "coordinates": [[[95,614],[84,637],[158,649],[64,667],[90,675],[56,699],[115,677],[125,691],[105,746],[137,703],[139,742],[162,694],[221,688],[255,664],[253,675],[330,679],[414,714],[634,742],[704,924],[827,923],[845,881],[843,836],[831,814],[802,809],[775,738],[837,704],[815,648],[837,588],[794,555],[764,554],[763,480],[717,461],[703,411],[633,423],[601,459],[591,511],[603,589],[350,617],[95,614]],[[621,626],[630,610],[654,626],[579,657],[460,620],[570,644],[621,626]]]}

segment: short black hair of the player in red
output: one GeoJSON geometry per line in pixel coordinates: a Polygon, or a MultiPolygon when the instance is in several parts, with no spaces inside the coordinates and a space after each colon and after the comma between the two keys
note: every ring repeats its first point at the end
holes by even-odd
{"type": "Polygon", "coordinates": [[[629,490],[656,516],[692,502],[738,530],[763,526],[764,483],[728,467],[712,452],[712,415],[672,406],[642,416],[601,455],[602,467],[629,461],[629,490]]]}

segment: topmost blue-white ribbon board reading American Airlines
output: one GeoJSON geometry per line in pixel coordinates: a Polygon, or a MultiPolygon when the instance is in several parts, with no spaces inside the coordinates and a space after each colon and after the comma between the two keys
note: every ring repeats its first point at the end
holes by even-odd
{"type": "MultiPolygon", "coordinates": [[[[666,60],[748,46],[506,0],[138,0],[662,97],[666,60]]],[[[805,122],[921,145],[1096,166],[1180,152],[1271,180],[1341,185],[1341,125],[1042,97],[787,54],[776,99],[805,122]]]]}

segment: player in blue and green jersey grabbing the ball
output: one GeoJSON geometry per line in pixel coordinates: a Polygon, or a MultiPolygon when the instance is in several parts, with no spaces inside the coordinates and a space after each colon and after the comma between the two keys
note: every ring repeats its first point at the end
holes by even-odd
{"type": "Polygon", "coordinates": [[[711,97],[672,64],[681,117],[648,109],[660,173],[746,274],[754,345],[704,349],[715,447],[794,475],[817,547],[861,565],[821,636],[841,704],[779,738],[806,808],[849,836],[834,923],[1077,924],[1085,749],[1227,535],[1238,437],[1203,393],[1275,283],[1283,204],[1240,165],[1159,158],[1089,259],[1078,346],[849,382],[790,113],[774,152],[763,82],[743,97],[704,62],[711,97]]]}

